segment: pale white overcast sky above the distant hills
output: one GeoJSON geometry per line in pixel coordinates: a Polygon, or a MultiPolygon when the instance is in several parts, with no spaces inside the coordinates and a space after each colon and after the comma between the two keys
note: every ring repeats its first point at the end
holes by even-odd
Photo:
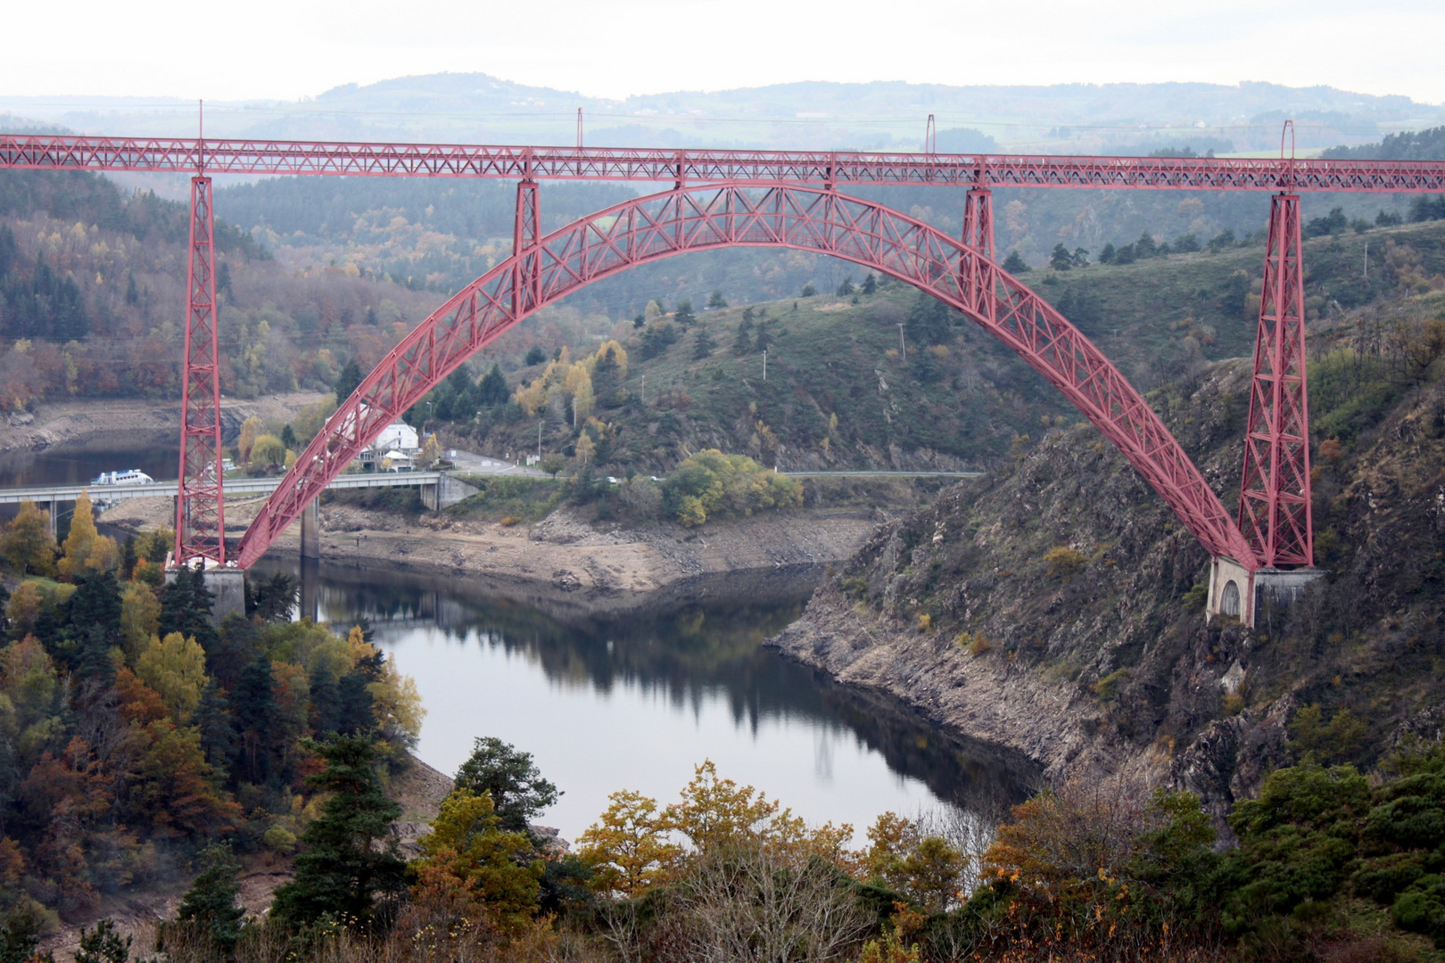
{"type": "Polygon", "coordinates": [[[292,100],[481,71],[600,97],[1254,79],[1445,103],[1442,0],[14,0],[0,26],[0,95],[292,100]]]}

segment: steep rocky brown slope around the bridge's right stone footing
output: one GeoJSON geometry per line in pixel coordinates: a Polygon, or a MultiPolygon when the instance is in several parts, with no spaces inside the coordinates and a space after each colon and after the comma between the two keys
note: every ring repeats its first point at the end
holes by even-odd
{"type": "MultiPolygon", "coordinates": [[[[1150,397],[1227,505],[1247,387],[1235,361],[1150,397]]],[[[1254,631],[1205,625],[1204,550],[1079,423],[880,527],[773,644],[1052,780],[1129,770],[1220,816],[1293,758],[1302,705],[1363,719],[1327,748],[1370,764],[1402,732],[1436,735],[1445,705],[1445,390],[1400,381],[1371,397],[1358,430],[1316,456],[1329,578],[1254,631]]],[[[1337,391],[1322,420],[1361,404],[1337,391]]]]}

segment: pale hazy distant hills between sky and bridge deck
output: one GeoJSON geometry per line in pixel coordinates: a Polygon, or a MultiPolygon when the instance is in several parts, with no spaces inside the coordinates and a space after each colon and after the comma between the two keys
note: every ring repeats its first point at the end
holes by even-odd
{"type": "MultiPolygon", "coordinates": [[[[1296,121],[1299,147],[1377,141],[1402,128],[1445,123],[1441,105],[1332,87],[1277,84],[942,84],[798,82],[728,91],[675,91],[614,101],[514,84],[486,74],[399,77],[347,84],[303,101],[207,103],[217,136],[409,139],[571,144],[577,110],[592,144],[919,150],[933,114],[944,133],[984,140],[961,150],[1149,153],[1269,150],[1280,123],[1296,121]],[[993,139],[988,141],[987,139],[993,139]]],[[[0,97],[0,111],[85,133],[184,136],[195,104],[155,98],[0,97]]]]}

